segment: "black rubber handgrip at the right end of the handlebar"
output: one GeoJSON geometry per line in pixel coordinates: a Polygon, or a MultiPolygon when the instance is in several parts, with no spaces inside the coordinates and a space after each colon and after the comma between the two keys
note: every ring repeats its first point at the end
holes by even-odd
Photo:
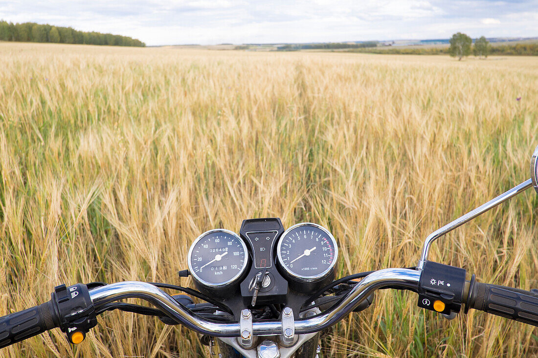
{"type": "Polygon", "coordinates": [[[476,283],[468,304],[475,310],[538,326],[538,295],[535,292],[476,283]]]}

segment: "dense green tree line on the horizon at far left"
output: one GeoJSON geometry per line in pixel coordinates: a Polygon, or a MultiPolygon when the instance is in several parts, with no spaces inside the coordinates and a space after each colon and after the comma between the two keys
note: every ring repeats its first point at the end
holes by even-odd
{"type": "Polygon", "coordinates": [[[1,41],[55,42],[56,44],[84,44],[144,47],[144,42],[111,33],[78,31],[72,27],[36,23],[13,24],[0,21],[1,41]]]}

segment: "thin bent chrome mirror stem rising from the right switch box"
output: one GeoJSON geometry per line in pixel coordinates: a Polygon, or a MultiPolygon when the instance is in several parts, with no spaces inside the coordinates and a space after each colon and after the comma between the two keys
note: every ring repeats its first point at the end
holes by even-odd
{"type": "Polygon", "coordinates": [[[444,234],[454,230],[455,228],[462,226],[463,224],[467,223],[468,221],[476,218],[477,216],[485,213],[488,210],[493,209],[493,207],[504,203],[508,199],[520,194],[521,192],[527,190],[533,185],[532,180],[527,180],[516,187],[508,190],[507,192],[499,195],[498,197],[494,198],[493,200],[477,207],[475,210],[470,211],[466,213],[464,216],[457,218],[456,220],[452,221],[451,223],[441,227],[440,229],[434,231],[431,233],[426,240],[424,241],[424,246],[422,247],[422,254],[420,255],[419,264],[417,265],[417,268],[419,270],[422,270],[424,268],[424,263],[428,261],[428,254],[430,250],[431,244],[437,240],[438,238],[442,237],[444,234]]]}

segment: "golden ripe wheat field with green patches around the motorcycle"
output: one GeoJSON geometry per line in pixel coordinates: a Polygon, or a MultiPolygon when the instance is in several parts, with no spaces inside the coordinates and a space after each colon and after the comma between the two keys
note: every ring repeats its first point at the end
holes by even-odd
{"type": "MultiPolygon", "coordinates": [[[[192,285],[191,242],[243,219],[312,221],[337,276],[413,266],[436,228],[529,178],[538,60],[0,43],[0,315],[55,285],[192,285]],[[519,100],[516,99],[521,97],[519,100]]],[[[538,196],[434,244],[468,279],[538,288],[538,196]]],[[[325,357],[538,356],[532,326],[412,292],[323,336],[325,357]]],[[[198,336],[109,312],[78,346],[58,329],[3,357],[197,357],[198,336]]]]}

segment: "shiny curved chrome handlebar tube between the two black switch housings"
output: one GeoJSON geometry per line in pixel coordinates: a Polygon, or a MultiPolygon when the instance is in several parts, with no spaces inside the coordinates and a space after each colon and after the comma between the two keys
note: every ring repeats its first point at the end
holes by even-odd
{"type": "MultiPolygon", "coordinates": [[[[375,290],[387,287],[416,289],[420,271],[402,268],[389,268],[366,276],[331,310],[314,317],[295,320],[295,334],[313,333],[334,325],[352,312],[366,297],[375,290]]],[[[140,298],[158,307],[193,331],[216,337],[238,337],[240,326],[237,322],[220,323],[199,316],[192,316],[166,292],[150,283],[125,281],[97,287],[89,291],[96,309],[102,305],[125,298],[140,298]]],[[[282,332],[279,320],[252,322],[254,335],[277,335],[282,332]]]]}

